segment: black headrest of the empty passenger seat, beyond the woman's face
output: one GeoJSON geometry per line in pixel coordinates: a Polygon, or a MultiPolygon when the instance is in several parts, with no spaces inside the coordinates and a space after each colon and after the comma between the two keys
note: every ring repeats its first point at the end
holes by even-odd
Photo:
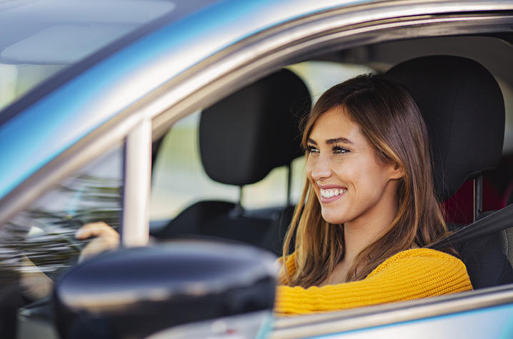
{"type": "Polygon", "coordinates": [[[201,161],[210,178],[243,186],[301,155],[300,115],[307,86],[283,69],[206,108],[199,121],[201,161]]]}

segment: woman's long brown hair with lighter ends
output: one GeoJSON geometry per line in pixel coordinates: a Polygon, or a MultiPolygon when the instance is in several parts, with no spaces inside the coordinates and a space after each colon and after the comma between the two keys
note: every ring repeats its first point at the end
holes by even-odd
{"type": "MultiPolygon", "coordinates": [[[[364,75],[329,88],[304,123],[306,148],[312,126],[323,113],[343,107],[384,161],[396,163],[399,209],[389,227],[354,259],[347,281],[362,280],[380,263],[412,246],[427,246],[447,233],[434,192],[427,128],[412,96],[383,76],[364,75]]],[[[308,155],[307,155],[308,156],[308,155]]],[[[296,270],[285,269],[282,283],[319,285],[344,258],[344,226],[324,221],[321,206],[307,180],[284,241],[284,258],[295,237],[296,270]]]]}

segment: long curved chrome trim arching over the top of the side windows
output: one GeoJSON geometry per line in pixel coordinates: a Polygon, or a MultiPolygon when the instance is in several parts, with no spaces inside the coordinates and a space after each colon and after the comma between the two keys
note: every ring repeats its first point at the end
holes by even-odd
{"type": "MultiPolygon", "coordinates": [[[[464,12],[485,10],[486,2],[467,1],[468,8],[460,4],[458,9],[464,12]]],[[[512,1],[492,2],[497,6],[500,4],[500,9],[513,10],[512,1]]],[[[511,29],[513,16],[501,14],[483,16],[467,13],[397,18],[398,7],[424,4],[427,9],[439,13],[439,6],[450,7],[450,3],[447,0],[404,0],[349,6],[299,18],[239,41],[156,88],[34,173],[2,199],[0,225],[28,206],[49,186],[58,183],[61,178],[76,171],[102,151],[122,142],[129,131],[141,122],[141,117],[152,119],[153,138],[159,138],[182,116],[208,106],[259,76],[285,66],[299,55],[306,58],[319,53],[319,50],[324,53],[412,35],[442,36],[504,31],[506,27],[511,29]],[[362,10],[365,10],[363,17],[354,15],[362,10]],[[365,18],[371,20],[358,21],[365,18]],[[377,32],[381,32],[381,35],[377,36],[377,32]]],[[[414,12],[422,8],[416,7],[414,12]]],[[[400,12],[412,13],[412,9],[400,12]]]]}

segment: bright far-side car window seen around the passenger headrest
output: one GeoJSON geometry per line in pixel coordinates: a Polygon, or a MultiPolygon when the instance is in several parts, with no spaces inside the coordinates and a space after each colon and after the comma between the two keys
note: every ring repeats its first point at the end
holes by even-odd
{"type": "MultiPolygon", "coordinates": [[[[368,66],[337,64],[328,61],[307,61],[288,67],[309,88],[312,100],[345,79],[358,74],[371,73],[368,66]]],[[[211,180],[201,165],[199,154],[199,117],[196,111],[181,119],[164,137],[154,163],[151,191],[151,220],[153,228],[158,221],[176,217],[181,211],[198,201],[221,200],[236,202],[237,186],[211,180]]],[[[274,168],[262,181],[246,185],[241,205],[246,210],[272,208],[287,204],[287,167],[274,168]]],[[[292,162],[291,202],[297,203],[304,183],[304,158],[292,162]]]]}

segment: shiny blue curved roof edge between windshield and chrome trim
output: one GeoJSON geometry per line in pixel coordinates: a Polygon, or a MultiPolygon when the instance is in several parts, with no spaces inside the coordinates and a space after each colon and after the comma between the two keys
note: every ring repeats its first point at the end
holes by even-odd
{"type": "MultiPolygon", "coordinates": [[[[364,2],[374,1],[208,3],[179,19],[151,21],[76,61],[0,111],[0,198],[131,103],[226,46],[300,16],[364,2]]],[[[6,56],[16,53],[21,61],[20,50],[6,56]]]]}

